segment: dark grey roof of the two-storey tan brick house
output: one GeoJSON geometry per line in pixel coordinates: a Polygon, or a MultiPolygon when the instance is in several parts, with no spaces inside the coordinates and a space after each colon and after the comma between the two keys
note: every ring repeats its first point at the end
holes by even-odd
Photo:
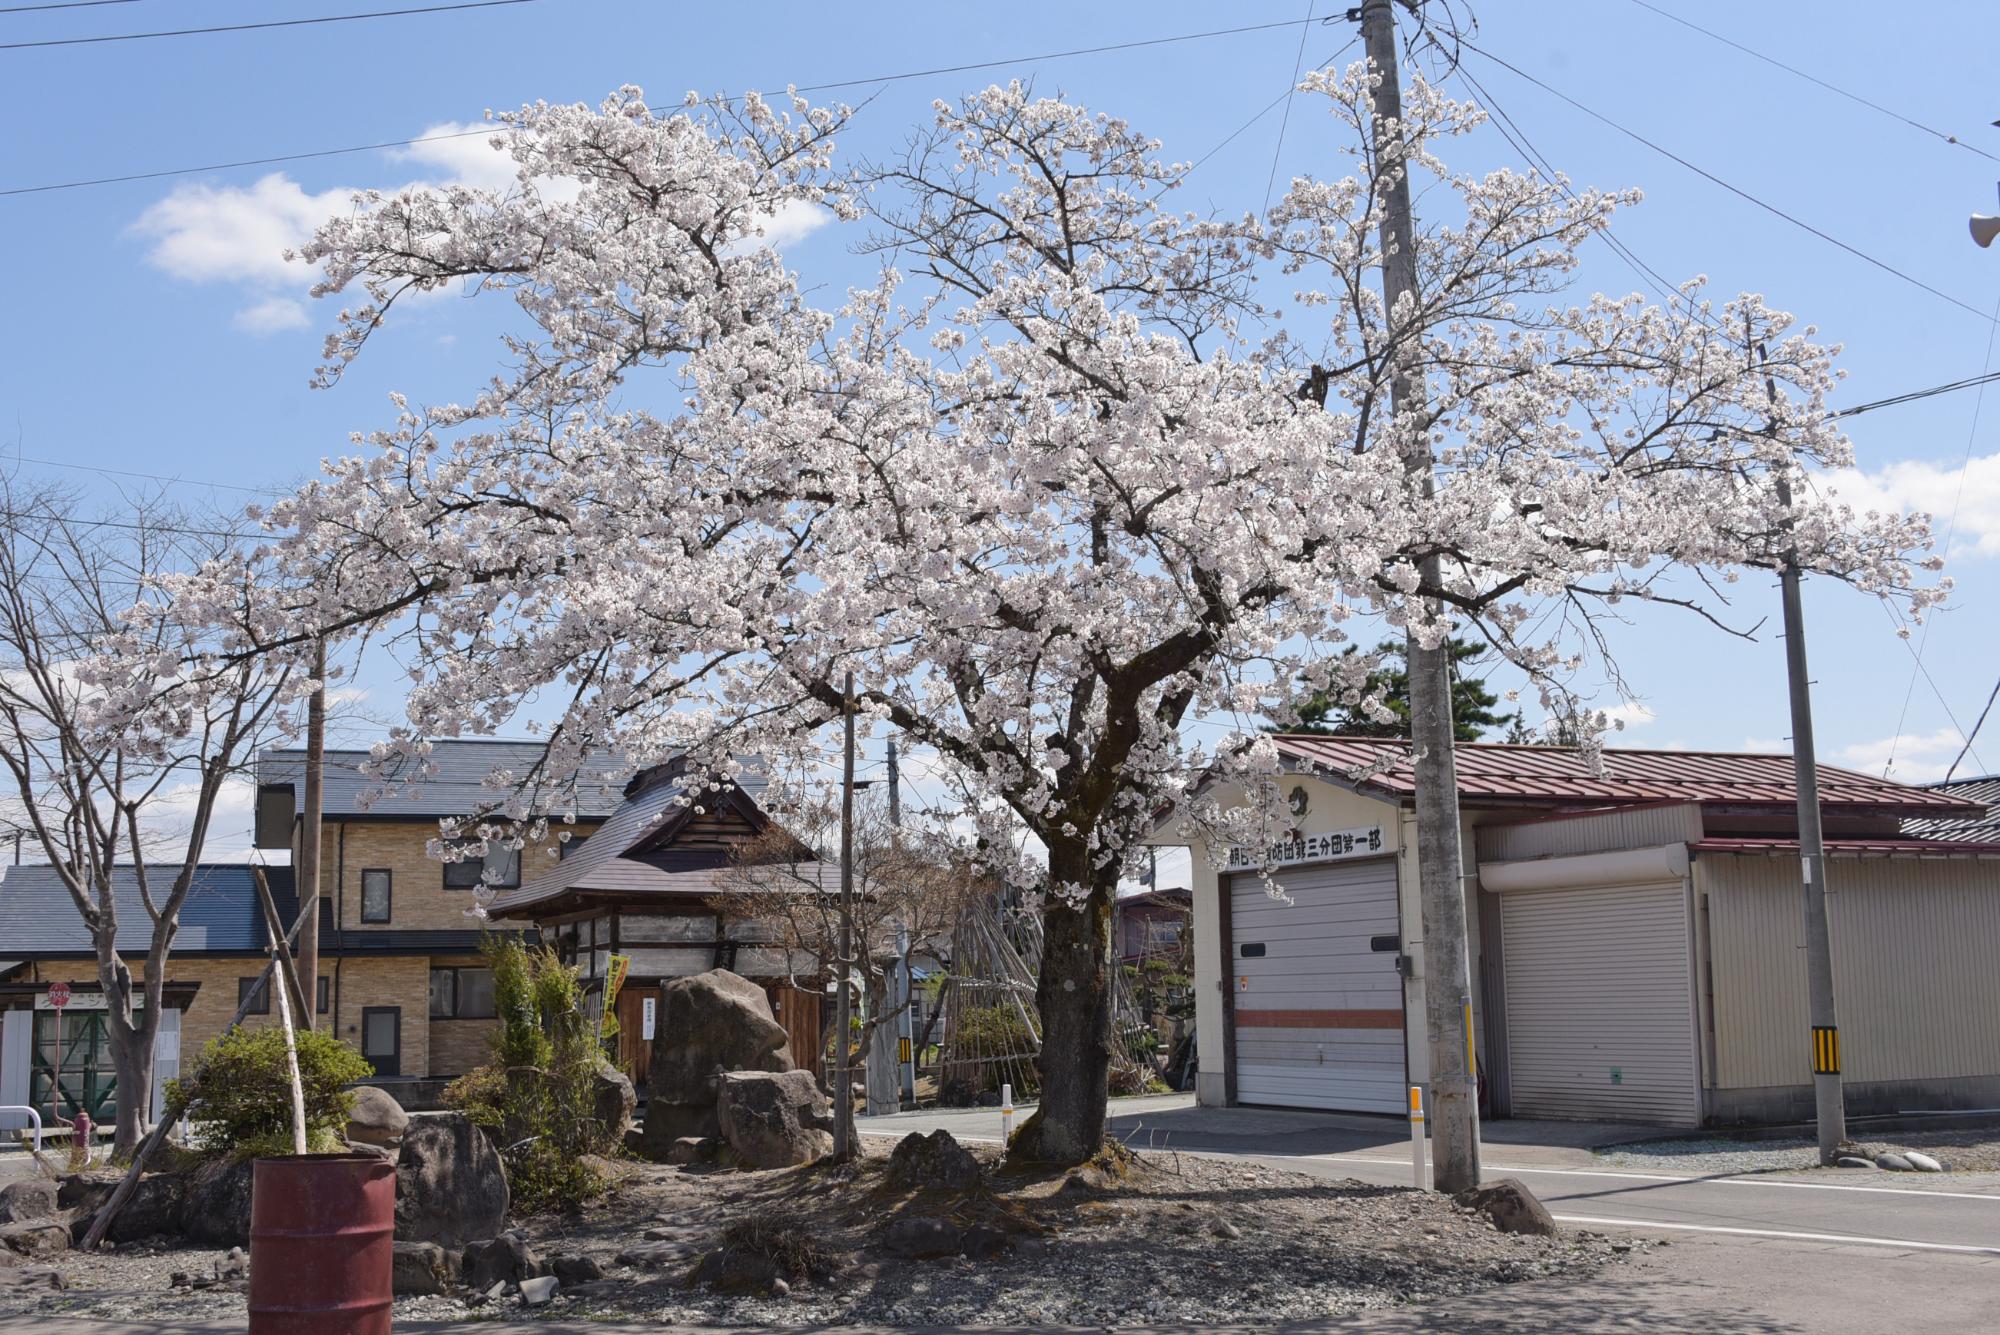
{"type": "MultiPolygon", "coordinates": [[[[430,763],[436,773],[418,779],[414,791],[396,781],[396,773],[366,773],[368,751],[328,751],[322,811],[326,815],[472,815],[484,805],[506,795],[506,787],[488,783],[494,773],[524,777],[542,757],[540,741],[502,739],[450,739],[436,741],[430,749],[430,763]],[[390,785],[390,791],[376,801],[362,805],[364,795],[390,785]]],[[[412,761],[404,759],[402,765],[412,761]]],[[[406,773],[414,773],[408,769],[406,773]]],[[[306,753],[302,749],[270,749],[256,759],[258,787],[290,787],[292,811],[304,811],[306,799],[306,753]]],[[[612,755],[592,761],[592,767],[578,779],[576,815],[580,819],[600,819],[610,815],[620,801],[624,769],[612,755]]]]}

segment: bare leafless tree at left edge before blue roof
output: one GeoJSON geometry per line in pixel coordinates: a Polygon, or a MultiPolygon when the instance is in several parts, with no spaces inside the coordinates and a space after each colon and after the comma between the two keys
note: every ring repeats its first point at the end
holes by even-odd
{"type": "Polygon", "coordinates": [[[290,673],[264,662],[182,689],[208,669],[160,582],[234,544],[224,522],[156,498],[94,520],[74,492],[0,484],[0,765],[10,781],[0,829],[56,867],[90,931],[118,1073],[118,1157],[146,1129],[162,983],[216,807],[284,721],[290,693],[290,673]],[[134,620],[134,608],[152,616],[134,620]],[[150,660],[148,671],[96,675],[114,650],[150,660]],[[106,731],[112,691],[140,701],[126,717],[144,721],[106,731]],[[146,915],[138,933],[122,923],[134,893],[146,915]],[[134,979],[128,955],[140,939],[134,979]]]}

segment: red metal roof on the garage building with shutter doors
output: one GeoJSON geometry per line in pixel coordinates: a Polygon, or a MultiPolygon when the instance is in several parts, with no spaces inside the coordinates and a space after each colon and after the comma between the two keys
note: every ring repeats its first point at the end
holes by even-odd
{"type": "MultiPolygon", "coordinates": [[[[1278,733],[1278,751],[1390,797],[1410,797],[1416,779],[1410,743],[1400,737],[1278,733]]],[[[1458,793],[1474,801],[1524,805],[1702,805],[1790,807],[1790,755],[1744,751],[1624,751],[1606,747],[1592,767],[1586,751],[1554,745],[1458,743],[1458,793]]],[[[1972,815],[1984,807],[1932,787],[1890,783],[1854,769],[1820,765],[1820,805],[1870,807],[1908,815],[1972,815]]]]}

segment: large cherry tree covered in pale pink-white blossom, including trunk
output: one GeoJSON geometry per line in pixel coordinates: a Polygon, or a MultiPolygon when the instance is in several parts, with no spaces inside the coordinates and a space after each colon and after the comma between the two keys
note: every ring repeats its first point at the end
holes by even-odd
{"type": "MultiPolygon", "coordinates": [[[[1572,298],[1632,196],[1452,176],[1440,146],[1480,116],[1422,80],[1420,310],[1386,312],[1370,76],[1308,90],[1358,166],[1262,218],[1178,212],[1186,168],[1152,140],[1018,84],[852,166],[844,112],[796,98],[654,110],[628,88],[504,116],[508,192],[366,196],[306,248],[322,294],[366,298],[328,384],[414,292],[464,282],[520,322],[470,400],[398,400],[264,516],[310,596],[274,598],[234,652],[394,626],[412,753],[554,701],[544,767],[502,775],[526,819],[574,803],[594,745],[718,775],[784,751],[852,671],[864,721],[952,765],[992,869],[1042,895],[1044,1101],[1014,1153],[1080,1161],[1136,841],[1160,819],[1212,847],[1284,827],[1268,737],[1192,721],[1360,697],[1350,620],[1438,642],[1424,600],[1560,693],[1604,608],[1722,616],[1686,590],[1790,544],[1914,612],[1938,596],[1922,522],[1780,500],[1850,458],[1810,330],[1698,284],[1572,298]],[[880,264],[838,308],[760,244],[800,208],[880,264]],[[1398,376],[1426,378],[1422,414],[1390,408],[1398,376]],[[1418,486],[1404,460],[1430,448],[1418,486]],[[1222,809],[1216,775],[1260,801],[1222,809]]],[[[226,606],[178,594],[178,616],[226,606]]]]}

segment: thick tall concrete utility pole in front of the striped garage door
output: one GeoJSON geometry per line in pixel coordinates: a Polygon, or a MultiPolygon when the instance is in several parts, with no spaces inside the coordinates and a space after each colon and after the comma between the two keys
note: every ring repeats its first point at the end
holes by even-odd
{"type": "MultiPolygon", "coordinates": [[[[1416,222],[1410,212],[1410,174],[1404,164],[1402,80],[1396,60],[1396,14],[1390,0],[1362,4],[1362,40],[1376,72],[1374,160],[1386,178],[1382,214],[1382,298],[1388,306],[1390,356],[1402,358],[1418,330],[1404,302],[1416,296],[1416,222]],[[1390,128],[1394,126],[1394,136],[1390,128]]],[[[1396,374],[1390,406],[1398,418],[1424,412],[1422,378],[1396,374]]],[[[1428,432],[1416,432],[1404,454],[1410,486],[1436,494],[1428,432]]],[[[1418,564],[1426,584],[1440,584],[1442,564],[1418,564]]],[[[1438,626],[1444,610],[1426,600],[1422,616],[1438,626]]],[[[1458,821],[1458,759],[1452,731],[1450,642],[1426,650],[1416,632],[1408,638],[1410,745],[1416,751],[1416,869],[1422,891],[1424,931],[1424,1029],[1430,1039],[1430,1157],[1432,1185],[1444,1193],[1480,1183],[1478,1067],[1472,1055],[1472,961],[1466,949],[1466,875],[1458,821]]]]}

